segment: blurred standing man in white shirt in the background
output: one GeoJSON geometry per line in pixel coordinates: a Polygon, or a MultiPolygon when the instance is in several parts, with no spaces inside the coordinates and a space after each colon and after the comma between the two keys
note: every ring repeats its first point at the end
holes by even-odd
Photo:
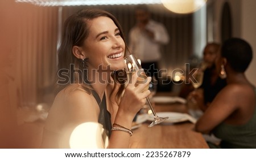
{"type": "MultiPolygon", "coordinates": [[[[158,60],[161,58],[160,46],[169,42],[169,36],[163,24],[150,18],[146,5],[135,8],[137,24],[129,33],[129,49],[136,58],[141,59],[142,68],[148,76],[158,79],[158,60]]],[[[158,82],[159,83],[159,82],[158,82]]]]}

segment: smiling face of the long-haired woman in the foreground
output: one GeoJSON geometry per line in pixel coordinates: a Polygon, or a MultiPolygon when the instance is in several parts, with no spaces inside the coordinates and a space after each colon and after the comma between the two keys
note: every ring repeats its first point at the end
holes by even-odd
{"type": "Polygon", "coordinates": [[[82,46],[88,58],[88,69],[98,69],[101,65],[103,69],[109,65],[112,70],[122,69],[125,42],[117,25],[105,16],[90,20],[89,23],[89,35],[82,46]]]}

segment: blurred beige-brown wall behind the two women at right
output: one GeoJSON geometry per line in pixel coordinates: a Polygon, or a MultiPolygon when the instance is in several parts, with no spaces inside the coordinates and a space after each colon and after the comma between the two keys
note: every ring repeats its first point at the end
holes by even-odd
{"type": "Polygon", "coordinates": [[[256,86],[256,1],[255,0],[218,0],[215,3],[215,23],[216,27],[214,32],[216,33],[216,41],[220,42],[221,37],[221,9],[224,2],[229,2],[231,14],[232,14],[232,25],[233,25],[233,36],[241,37],[248,41],[253,48],[253,60],[246,71],[246,76],[256,86]]]}

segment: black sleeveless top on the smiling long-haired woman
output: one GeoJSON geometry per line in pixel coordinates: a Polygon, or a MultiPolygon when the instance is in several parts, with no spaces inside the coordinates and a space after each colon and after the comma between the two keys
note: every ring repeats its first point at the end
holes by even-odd
{"type": "Polygon", "coordinates": [[[98,116],[98,123],[102,124],[103,128],[106,131],[106,135],[110,137],[112,123],[111,123],[111,115],[106,108],[106,95],[104,93],[104,96],[101,101],[100,96],[98,96],[95,90],[92,90],[92,94],[95,100],[97,101],[98,106],[100,107],[100,115],[98,116]]]}

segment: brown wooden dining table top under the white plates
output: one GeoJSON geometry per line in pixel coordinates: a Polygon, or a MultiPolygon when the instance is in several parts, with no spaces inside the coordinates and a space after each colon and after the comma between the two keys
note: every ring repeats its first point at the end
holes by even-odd
{"type": "MultiPolygon", "coordinates": [[[[156,104],[156,112],[171,111],[187,113],[187,107],[181,103],[156,104]]],[[[194,124],[181,122],[172,124],[158,124],[147,127],[145,122],[133,131],[129,148],[209,148],[203,135],[193,131],[194,124]]]]}

